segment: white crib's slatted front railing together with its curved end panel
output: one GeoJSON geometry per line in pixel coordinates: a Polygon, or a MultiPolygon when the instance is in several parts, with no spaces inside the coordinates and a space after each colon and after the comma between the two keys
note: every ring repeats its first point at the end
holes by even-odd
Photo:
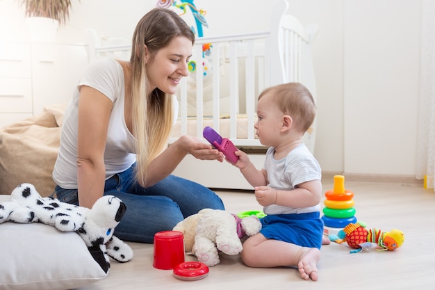
{"type": "MultiPolygon", "coordinates": [[[[256,99],[268,86],[297,81],[303,83],[315,97],[315,78],[311,60],[311,40],[317,32],[315,24],[305,29],[298,19],[285,15],[288,3],[277,1],[272,8],[270,31],[247,33],[243,35],[224,35],[220,37],[199,38],[195,42],[192,59],[196,63],[206,63],[207,56],[202,47],[211,44],[211,67],[213,67],[213,111],[204,113],[204,67],[197,65],[195,79],[195,135],[202,137],[204,122],[213,119],[213,128],[220,131],[222,112],[222,74],[229,74],[229,135],[238,147],[263,147],[255,136],[256,99]],[[281,16],[281,17],[278,17],[281,16]],[[218,56],[218,57],[216,57],[218,56]],[[199,61],[197,61],[199,60],[199,61]],[[222,63],[225,65],[223,66],[222,63]],[[243,65],[240,65],[243,63],[243,65]],[[240,102],[242,101],[242,102],[240,102]],[[246,118],[243,127],[244,138],[239,138],[238,122],[240,114],[246,118]]],[[[188,93],[192,93],[183,79],[179,90],[179,122],[181,134],[188,134],[191,126],[188,114],[188,93]]],[[[315,122],[304,136],[304,142],[313,152],[315,122]]],[[[171,138],[171,142],[178,136],[171,138]]]]}

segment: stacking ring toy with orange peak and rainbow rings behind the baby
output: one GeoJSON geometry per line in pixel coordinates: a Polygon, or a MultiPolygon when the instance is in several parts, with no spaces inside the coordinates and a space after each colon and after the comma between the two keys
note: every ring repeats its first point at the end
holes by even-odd
{"type": "MultiPolygon", "coordinates": [[[[322,220],[326,227],[343,229],[350,223],[356,223],[354,193],[345,190],[343,175],[334,176],[334,189],[327,191],[325,198],[322,220]]],[[[325,229],[325,234],[330,234],[328,229],[325,229]]]]}

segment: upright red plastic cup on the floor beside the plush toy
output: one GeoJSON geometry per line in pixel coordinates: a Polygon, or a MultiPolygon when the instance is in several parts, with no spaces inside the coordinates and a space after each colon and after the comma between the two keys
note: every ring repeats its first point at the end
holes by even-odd
{"type": "Polygon", "coordinates": [[[183,233],[163,231],[154,234],[154,268],[171,270],[184,262],[183,233]]]}

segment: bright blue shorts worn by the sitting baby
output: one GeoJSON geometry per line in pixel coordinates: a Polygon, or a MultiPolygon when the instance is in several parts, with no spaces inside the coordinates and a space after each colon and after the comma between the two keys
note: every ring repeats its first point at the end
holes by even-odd
{"type": "Polygon", "coordinates": [[[276,214],[261,218],[261,234],[267,239],[285,241],[302,247],[322,246],[323,222],[320,212],[276,214]]]}

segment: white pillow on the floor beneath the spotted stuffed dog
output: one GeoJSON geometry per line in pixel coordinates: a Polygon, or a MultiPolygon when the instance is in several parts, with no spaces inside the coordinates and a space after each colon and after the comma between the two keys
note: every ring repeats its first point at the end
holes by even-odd
{"type": "Polygon", "coordinates": [[[76,232],[6,222],[0,241],[0,289],[72,289],[107,277],[76,232]]]}

